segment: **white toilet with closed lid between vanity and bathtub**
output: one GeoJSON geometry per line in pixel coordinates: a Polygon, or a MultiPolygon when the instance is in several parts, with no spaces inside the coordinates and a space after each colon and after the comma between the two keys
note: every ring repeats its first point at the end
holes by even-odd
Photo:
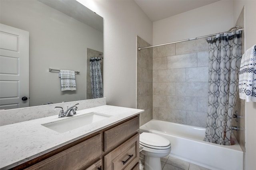
{"type": "Polygon", "coordinates": [[[170,141],[153,133],[140,134],[140,158],[144,158],[144,170],[161,170],[160,158],[171,152],[170,141]]]}

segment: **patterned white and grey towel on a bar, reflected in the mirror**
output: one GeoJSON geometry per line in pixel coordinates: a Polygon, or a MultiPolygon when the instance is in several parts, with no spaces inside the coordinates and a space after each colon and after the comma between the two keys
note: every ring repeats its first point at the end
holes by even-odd
{"type": "Polygon", "coordinates": [[[60,70],[61,91],[76,90],[75,71],[60,70]]]}

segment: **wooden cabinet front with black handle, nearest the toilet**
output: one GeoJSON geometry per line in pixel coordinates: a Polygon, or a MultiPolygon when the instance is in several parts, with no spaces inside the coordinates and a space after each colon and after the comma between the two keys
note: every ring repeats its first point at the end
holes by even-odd
{"type": "Polygon", "coordinates": [[[104,170],[131,170],[139,162],[139,133],[104,156],[104,170]]]}

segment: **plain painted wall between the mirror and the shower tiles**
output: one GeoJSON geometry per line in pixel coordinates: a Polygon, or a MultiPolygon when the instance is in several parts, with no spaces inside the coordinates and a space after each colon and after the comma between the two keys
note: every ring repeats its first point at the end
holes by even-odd
{"type": "Polygon", "coordinates": [[[78,0],[104,18],[104,96],[136,108],[136,35],[152,44],[152,21],[134,1],[78,0]]]}

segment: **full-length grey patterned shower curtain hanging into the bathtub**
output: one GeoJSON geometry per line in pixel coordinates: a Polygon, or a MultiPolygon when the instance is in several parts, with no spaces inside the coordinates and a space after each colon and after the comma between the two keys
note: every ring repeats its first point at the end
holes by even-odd
{"type": "Polygon", "coordinates": [[[232,115],[238,93],[242,31],[207,39],[209,44],[208,116],[204,141],[232,145],[232,115]]]}

